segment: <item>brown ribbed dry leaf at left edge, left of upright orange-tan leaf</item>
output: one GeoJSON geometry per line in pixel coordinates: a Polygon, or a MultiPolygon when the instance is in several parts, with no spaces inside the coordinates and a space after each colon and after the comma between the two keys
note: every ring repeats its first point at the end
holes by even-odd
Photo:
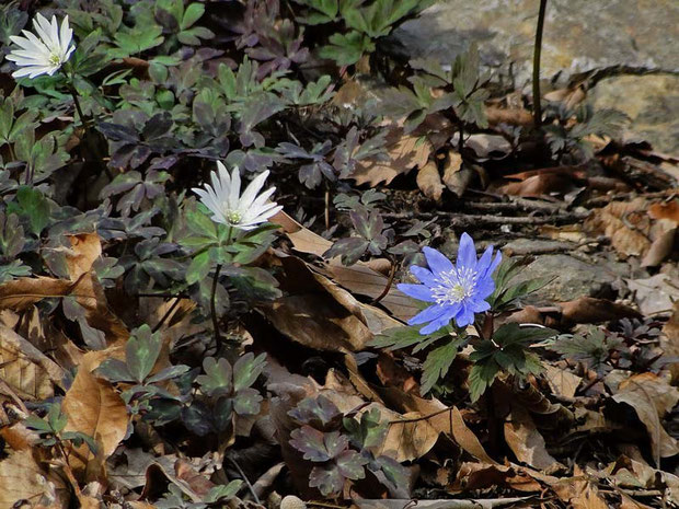
{"type": "Polygon", "coordinates": [[[54,396],[55,385],[62,386],[64,370],[4,325],[0,325],[0,379],[23,400],[54,396]]]}

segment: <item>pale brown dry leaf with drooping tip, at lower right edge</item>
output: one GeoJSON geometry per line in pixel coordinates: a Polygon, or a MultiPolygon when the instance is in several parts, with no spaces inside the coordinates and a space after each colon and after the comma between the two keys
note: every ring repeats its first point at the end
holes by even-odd
{"type": "Polygon", "coordinates": [[[679,443],[668,435],[660,420],[679,402],[677,387],[654,373],[635,374],[619,385],[613,401],[634,408],[651,438],[656,465],[661,458],[679,454],[679,443]]]}

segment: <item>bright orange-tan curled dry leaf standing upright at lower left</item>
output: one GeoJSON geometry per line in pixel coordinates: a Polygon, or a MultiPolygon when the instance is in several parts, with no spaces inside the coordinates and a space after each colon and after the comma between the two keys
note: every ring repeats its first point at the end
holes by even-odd
{"type": "Polygon", "coordinates": [[[68,416],[65,429],[92,437],[100,448],[95,456],[83,443],[71,459],[73,471],[85,481],[102,478],[104,462],[127,433],[129,416],[125,402],[111,383],[92,373],[113,351],[118,357],[122,355],[122,348],[115,347],[115,350],[90,351],[83,356],[78,374],[61,404],[68,416]]]}

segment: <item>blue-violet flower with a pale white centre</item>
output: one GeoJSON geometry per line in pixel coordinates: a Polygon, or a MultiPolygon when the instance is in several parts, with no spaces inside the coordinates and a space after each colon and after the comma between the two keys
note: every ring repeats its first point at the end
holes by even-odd
{"type": "Polygon", "coordinates": [[[474,323],[474,313],[491,309],[485,299],[495,291],[493,273],[502,261],[499,252],[493,258],[492,245],[476,259],[474,241],[462,233],[456,265],[431,247],[423,251],[429,269],[417,265],[411,267],[411,273],[422,285],[402,284],[398,287],[406,296],[433,304],[408,320],[408,325],[428,322],[419,329],[423,335],[445,327],[453,319],[458,327],[465,327],[474,323]]]}

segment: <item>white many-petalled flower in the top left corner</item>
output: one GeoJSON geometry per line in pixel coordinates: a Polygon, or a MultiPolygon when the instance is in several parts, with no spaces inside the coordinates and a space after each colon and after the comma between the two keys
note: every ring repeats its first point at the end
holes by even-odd
{"type": "Polygon", "coordinates": [[[12,50],[7,59],[19,66],[19,70],[12,73],[13,78],[27,76],[33,79],[41,74],[54,74],[66,62],[76,46],[71,44],[73,30],[68,25],[68,16],[61,22],[61,28],[57,23],[56,16],[51,16],[51,22],[39,12],[33,20],[33,28],[39,36],[24,30],[25,37],[12,35],[10,39],[20,49],[12,50]]]}

